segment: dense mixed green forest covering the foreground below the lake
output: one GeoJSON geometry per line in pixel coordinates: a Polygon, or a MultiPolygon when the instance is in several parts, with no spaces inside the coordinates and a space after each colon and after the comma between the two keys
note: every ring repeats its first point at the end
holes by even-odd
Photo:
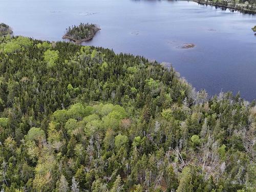
{"type": "Polygon", "coordinates": [[[0,37],[0,190],[256,190],[255,101],[113,50],[0,37]]]}

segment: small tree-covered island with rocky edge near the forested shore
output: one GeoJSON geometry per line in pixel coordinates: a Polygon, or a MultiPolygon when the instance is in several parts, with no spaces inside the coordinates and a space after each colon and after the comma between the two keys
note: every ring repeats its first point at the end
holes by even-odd
{"type": "Polygon", "coordinates": [[[72,26],[66,29],[66,34],[63,39],[70,39],[74,42],[81,43],[83,41],[91,40],[100,28],[95,24],[83,24],[79,26],[72,26]]]}

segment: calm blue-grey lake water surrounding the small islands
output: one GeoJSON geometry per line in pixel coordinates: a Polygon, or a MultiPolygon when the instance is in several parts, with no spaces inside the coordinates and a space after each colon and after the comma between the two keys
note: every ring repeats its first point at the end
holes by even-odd
{"type": "Polygon", "coordinates": [[[68,26],[101,30],[84,45],[172,63],[197,90],[256,99],[256,16],[186,1],[0,0],[15,35],[62,40],[68,26]],[[183,44],[196,46],[181,49],[183,44]]]}

